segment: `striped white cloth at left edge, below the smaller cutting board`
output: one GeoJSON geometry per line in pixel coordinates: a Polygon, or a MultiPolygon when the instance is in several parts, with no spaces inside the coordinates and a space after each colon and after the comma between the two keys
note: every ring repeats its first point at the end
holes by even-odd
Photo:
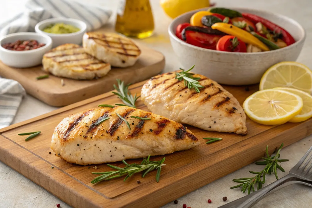
{"type": "Polygon", "coordinates": [[[25,94],[25,89],[17,81],[0,77],[0,128],[12,123],[25,94]]]}

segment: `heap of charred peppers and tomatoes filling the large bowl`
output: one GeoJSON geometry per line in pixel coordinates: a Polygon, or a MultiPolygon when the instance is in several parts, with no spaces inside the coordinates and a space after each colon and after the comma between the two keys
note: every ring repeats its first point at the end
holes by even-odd
{"type": "MultiPolygon", "coordinates": [[[[178,25],[176,31],[178,38],[187,43],[212,50],[220,49],[216,47],[216,42],[225,35],[234,36],[235,40],[240,40],[245,46],[249,44],[247,52],[276,50],[295,43],[288,31],[273,22],[251,13],[227,8],[215,7],[208,11],[198,11],[192,15],[190,23],[178,25]]],[[[232,49],[221,51],[246,52],[232,49]]]]}

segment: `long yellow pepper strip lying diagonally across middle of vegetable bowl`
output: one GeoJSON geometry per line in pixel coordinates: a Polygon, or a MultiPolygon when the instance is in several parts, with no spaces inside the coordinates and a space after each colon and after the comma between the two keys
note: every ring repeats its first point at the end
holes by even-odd
{"type": "Polygon", "coordinates": [[[245,43],[249,43],[253,46],[257,46],[262,51],[270,51],[268,46],[266,46],[258,38],[251,35],[249,32],[242,30],[239,27],[235,27],[234,25],[223,23],[223,22],[217,22],[217,23],[214,23],[211,26],[211,28],[222,31],[222,32],[227,33],[227,34],[232,35],[232,36],[236,36],[241,41],[244,41],[245,43]]]}

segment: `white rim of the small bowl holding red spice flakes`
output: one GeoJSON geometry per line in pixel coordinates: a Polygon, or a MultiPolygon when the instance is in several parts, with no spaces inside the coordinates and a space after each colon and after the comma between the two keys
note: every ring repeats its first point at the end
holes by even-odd
{"type": "MultiPolygon", "coordinates": [[[[31,39],[31,38],[30,38],[30,39],[31,39]]],[[[35,38],[34,38],[34,39],[35,39],[35,38]]],[[[11,34],[8,34],[8,35],[6,35],[6,36],[3,36],[3,37],[0,39],[0,50],[5,51],[5,52],[8,52],[8,53],[13,53],[13,54],[33,53],[33,52],[36,52],[36,51],[44,50],[45,48],[50,47],[51,45],[52,45],[52,39],[51,39],[50,36],[47,36],[47,35],[41,34],[41,33],[37,33],[37,32],[15,32],[15,33],[11,33],[11,34]],[[36,49],[32,49],[32,50],[27,50],[27,51],[12,51],[12,50],[8,50],[8,49],[2,47],[1,41],[3,41],[4,39],[6,39],[6,38],[8,38],[8,37],[20,36],[20,35],[42,36],[42,37],[46,38],[47,43],[46,43],[45,46],[42,46],[42,47],[36,48],[36,49]]]]}

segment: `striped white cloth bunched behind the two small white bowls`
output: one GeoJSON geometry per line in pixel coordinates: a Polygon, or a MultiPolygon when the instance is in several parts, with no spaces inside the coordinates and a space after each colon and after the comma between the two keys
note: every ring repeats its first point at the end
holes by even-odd
{"type": "Polygon", "coordinates": [[[0,23],[0,37],[14,32],[33,32],[38,22],[54,17],[68,17],[84,21],[87,31],[95,30],[108,22],[112,11],[67,0],[30,0],[21,12],[0,23]]]}

